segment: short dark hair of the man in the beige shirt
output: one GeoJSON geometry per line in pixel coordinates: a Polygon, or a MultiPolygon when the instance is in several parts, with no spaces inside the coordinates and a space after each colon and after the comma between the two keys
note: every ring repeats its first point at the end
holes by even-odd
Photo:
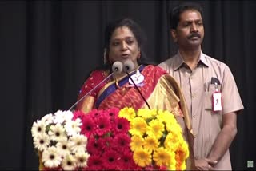
{"type": "Polygon", "coordinates": [[[184,2],[176,7],[174,7],[173,10],[170,11],[169,18],[170,18],[170,29],[176,29],[179,22],[180,14],[182,14],[185,10],[197,10],[201,16],[202,13],[202,6],[200,6],[198,3],[194,2],[184,2]]]}

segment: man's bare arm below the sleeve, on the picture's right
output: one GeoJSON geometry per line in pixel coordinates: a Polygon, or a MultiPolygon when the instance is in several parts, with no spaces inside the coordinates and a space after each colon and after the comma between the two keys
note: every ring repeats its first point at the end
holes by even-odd
{"type": "Polygon", "coordinates": [[[220,133],[214,141],[214,145],[210,150],[208,159],[210,161],[219,161],[222,156],[226,153],[226,150],[229,149],[231,142],[234,140],[235,135],[237,134],[237,113],[226,113],[222,117],[223,126],[220,133]]]}

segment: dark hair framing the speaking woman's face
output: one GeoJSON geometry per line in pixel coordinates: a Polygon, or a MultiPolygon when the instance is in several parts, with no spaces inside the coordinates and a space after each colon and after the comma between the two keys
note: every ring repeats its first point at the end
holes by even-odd
{"type": "Polygon", "coordinates": [[[141,57],[138,58],[138,64],[148,64],[149,62],[146,62],[146,54],[143,50],[144,43],[146,42],[146,35],[142,31],[142,28],[138,25],[137,22],[130,18],[121,18],[118,20],[114,20],[113,22],[110,22],[106,26],[105,30],[105,43],[104,43],[104,48],[105,48],[105,67],[104,68],[111,68],[111,64],[109,61],[109,50],[110,50],[110,39],[112,37],[112,34],[114,33],[114,30],[116,30],[119,27],[126,26],[130,29],[130,31],[134,34],[134,37],[136,38],[138,42],[138,47],[140,48],[141,51],[141,57]]]}

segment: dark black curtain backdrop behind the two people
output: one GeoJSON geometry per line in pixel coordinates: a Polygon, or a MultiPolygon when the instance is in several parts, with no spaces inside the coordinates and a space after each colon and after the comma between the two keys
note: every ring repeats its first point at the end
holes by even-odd
{"type": "MultiPolygon", "coordinates": [[[[205,14],[202,50],[230,66],[245,106],[230,153],[233,169],[247,169],[247,161],[256,165],[256,2],[198,2],[205,14]]],[[[162,62],[176,52],[168,11],[177,4],[1,1],[0,169],[38,169],[30,133],[33,121],[74,104],[90,71],[103,63],[107,22],[122,16],[134,18],[146,32],[148,58],[162,62]]]]}

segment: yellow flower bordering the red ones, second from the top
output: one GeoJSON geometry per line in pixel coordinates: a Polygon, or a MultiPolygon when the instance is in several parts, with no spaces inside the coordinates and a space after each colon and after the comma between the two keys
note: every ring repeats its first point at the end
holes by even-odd
{"type": "Polygon", "coordinates": [[[146,133],[146,121],[142,117],[135,117],[130,121],[130,130],[129,133],[132,135],[143,135],[146,133]]]}

